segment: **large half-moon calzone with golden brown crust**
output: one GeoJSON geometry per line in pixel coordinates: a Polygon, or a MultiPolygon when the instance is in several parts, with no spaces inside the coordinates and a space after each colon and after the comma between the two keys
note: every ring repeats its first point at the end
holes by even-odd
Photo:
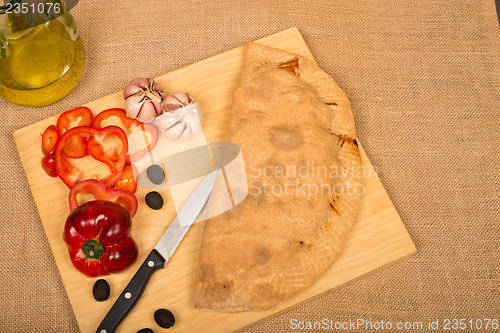
{"type": "Polygon", "coordinates": [[[355,138],[349,100],[328,74],[248,44],[227,141],[241,148],[249,194],[205,223],[197,308],[267,310],[331,266],[356,219],[355,138]]]}

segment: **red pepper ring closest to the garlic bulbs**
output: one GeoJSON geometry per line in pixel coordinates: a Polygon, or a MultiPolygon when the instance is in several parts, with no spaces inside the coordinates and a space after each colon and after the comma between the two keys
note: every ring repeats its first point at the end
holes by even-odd
{"type": "MultiPolygon", "coordinates": [[[[128,131],[134,132],[137,130],[141,130],[144,132],[144,140],[147,143],[147,147],[135,152],[130,156],[130,161],[134,162],[139,160],[141,157],[146,155],[148,151],[152,150],[156,144],[158,143],[158,129],[156,128],[155,125],[151,123],[143,123],[140,122],[136,119],[132,119],[127,116],[127,112],[123,109],[118,109],[118,108],[112,108],[112,109],[107,109],[102,112],[100,112],[95,118],[94,121],[92,122],[92,126],[95,128],[101,128],[101,122],[104,120],[115,116],[120,119],[120,122],[122,123],[123,127],[125,127],[128,131]],[[151,135],[151,138],[149,139],[146,135],[146,132],[151,135]]],[[[110,158],[112,160],[116,159],[116,155],[111,155],[110,158]]]]}

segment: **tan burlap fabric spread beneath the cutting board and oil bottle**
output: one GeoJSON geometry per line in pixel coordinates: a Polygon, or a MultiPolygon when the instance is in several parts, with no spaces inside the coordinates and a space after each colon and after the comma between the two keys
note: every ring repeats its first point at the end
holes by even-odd
{"type": "Polygon", "coordinates": [[[72,12],[87,53],[76,89],[41,109],[0,101],[0,332],[78,331],[11,133],[290,26],[349,96],[419,251],[245,332],[291,331],[293,318],[500,319],[493,0],[81,0],[72,12]]]}

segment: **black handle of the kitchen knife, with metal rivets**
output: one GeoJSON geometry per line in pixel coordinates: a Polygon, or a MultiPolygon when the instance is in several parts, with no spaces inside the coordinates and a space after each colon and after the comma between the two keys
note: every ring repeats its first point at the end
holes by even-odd
{"type": "Polygon", "coordinates": [[[130,280],[120,294],[115,304],[113,304],[108,311],[108,314],[97,328],[96,333],[112,333],[115,331],[118,324],[125,318],[135,302],[137,302],[142,295],[144,287],[146,287],[153,272],[158,268],[163,268],[165,263],[165,259],[163,259],[158,251],[153,249],[146,260],[144,260],[137,273],[135,273],[132,280],[130,280]]]}

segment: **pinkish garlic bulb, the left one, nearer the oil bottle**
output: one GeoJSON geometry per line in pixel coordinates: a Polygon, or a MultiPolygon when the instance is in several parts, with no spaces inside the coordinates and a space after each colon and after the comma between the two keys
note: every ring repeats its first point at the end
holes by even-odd
{"type": "Polygon", "coordinates": [[[161,114],[163,89],[150,78],[137,78],[123,90],[127,116],[142,122],[161,114]]]}

